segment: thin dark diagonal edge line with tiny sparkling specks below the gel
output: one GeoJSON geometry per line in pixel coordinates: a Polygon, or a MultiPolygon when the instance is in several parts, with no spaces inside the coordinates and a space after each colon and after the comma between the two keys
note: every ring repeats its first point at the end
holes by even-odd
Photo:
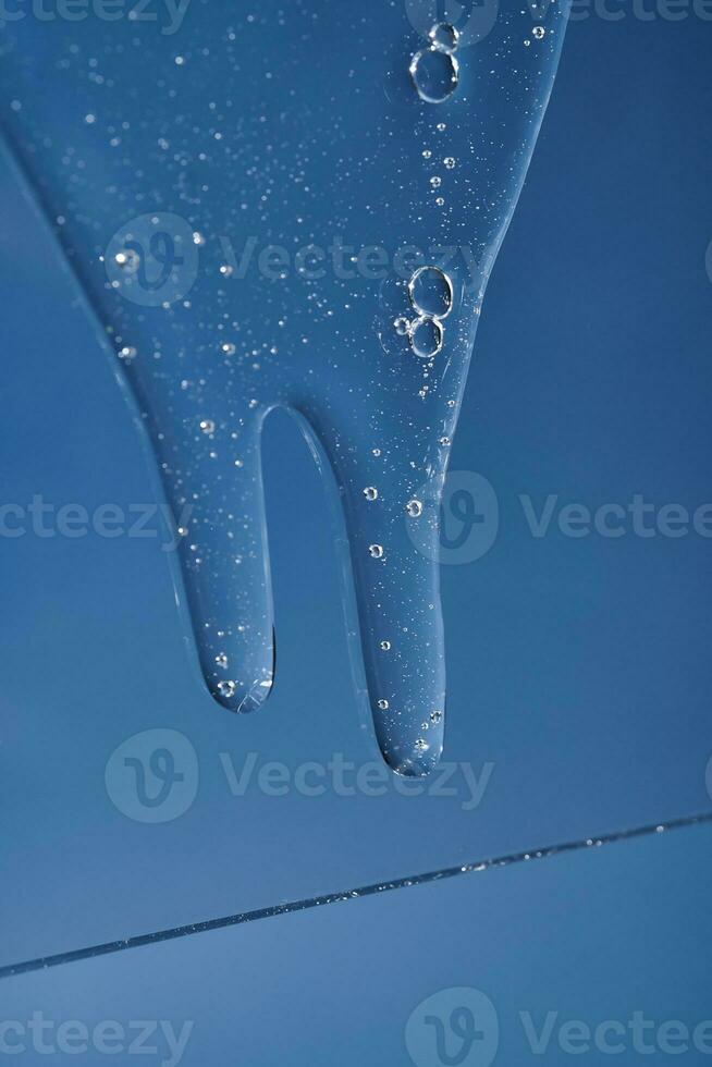
{"type": "Polygon", "coordinates": [[[123,952],[125,948],[140,948],[144,945],[157,945],[163,941],[188,937],[192,934],[206,933],[209,930],[237,927],[244,922],[255,922],[258,919],[271,919],[273,916],[291,915],[294,911],[307,911],[309,908],[318,908],[324,904],[357,900],[363,897],[376,896],[378,893],[389,893],[392,890],[403,890],[412,885],[427,885],[430,882],[440,882],[443,879],[456,878],[459,874],[474,874],[481,871],[494,870],[495,868],[512,867],[514,863],[549,859],[552,856],[563,856],[566,853],[584,851],[587,848],[600,848],[602,845],[613,845],[617,842],[633,841],[638,837],[651,837],[653,834],[663,834],[673,830],[684,830],[689,826],[699,826],[705,823],[712,824],[712,812],[687,815],[683,819],[673,819],[665,823],[636,826],[633,830],[621,830],[616,833],[567,842],[563,845],[552,845],[548,848],[539,848],[528,853],[512,853],[508,856],[480,860],[479,862],[467,863],[464,867],[446,867],[440,871],[429,871],[426,874],[400,878],[391,882],[378,882],[373,885],[365,885],[344,893],[329,893],[323,896],[309,897],[305,900],[291,900],[287,904],[278,904],[271,908],[242,911],[237,915],[224,916],[220,919],[208,919],[205,922],[193,922],[184,927],[173,927],[171,930],[157,930],[155,933],[126,937],[124,941],[109,941],[103,945],[93,945],[90,948],[77,948],[74,952],[58,953],[56,956],[44,956],[38,959],[28,959],[21,964],[10,964],[5,967],[0,967],[0,979],[12,978],[15,974],[26,974],[28,971],[46,970],[49,967],[59,967],[61,964],[74,964],[81,959],[93,959],[95,956],[108,956],[112,953],[123,952]]]}

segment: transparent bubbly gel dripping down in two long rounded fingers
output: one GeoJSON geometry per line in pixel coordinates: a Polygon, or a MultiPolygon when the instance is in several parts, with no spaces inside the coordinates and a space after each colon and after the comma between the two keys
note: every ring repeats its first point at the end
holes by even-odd
{"type": "Polygon", "coordinates": [[[8,21],[3,132],[145,427],[209,691],[245,712],[272,687],[260,436],[285,407],[339,490],[375,739],[427,773],[445,654],[439,510],[418,505],[442,491],[565,13],[524,49],[514,0],[469,47],[380,0],[180,7],[8,21]]]}

